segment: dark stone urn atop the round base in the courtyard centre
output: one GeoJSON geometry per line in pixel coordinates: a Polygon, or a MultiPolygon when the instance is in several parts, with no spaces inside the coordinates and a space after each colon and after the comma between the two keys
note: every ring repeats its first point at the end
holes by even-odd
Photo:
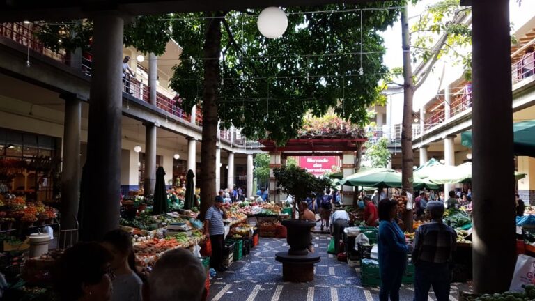
{"type": "Polygon", "coordinates": [[[307,255],[309,251],[307,247],[312,242],[310,229],[316,226],[316,222],[302,221],[299,219],[286,219],[281,222],[286,226],[287,234],[286,241],[290,245],[288,250],[289,255],[307,255]]]}

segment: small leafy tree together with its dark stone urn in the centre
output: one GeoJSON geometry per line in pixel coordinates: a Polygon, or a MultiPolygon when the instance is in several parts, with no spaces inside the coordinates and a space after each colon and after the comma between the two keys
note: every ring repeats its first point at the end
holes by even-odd
{"type": "MultiPolygon", "coordinates": [[[[312,197],[313,192],[323,193],[330,187],[330,180],[327,178],[316,178],[305,169],[296,166],[280,167],[273,170],[277,179],[277,186],[281,191],[293,196],[293,207],[299,211],[297,204],[307,197],[312,197]]],[[[316,221],[304,221],[299,219],[286,219],[282,222],[286,226],[286,240],[290,245],[288,254],[306,255],[307,246],[311,243],[310,229],[316,226],[316,221]]]]}

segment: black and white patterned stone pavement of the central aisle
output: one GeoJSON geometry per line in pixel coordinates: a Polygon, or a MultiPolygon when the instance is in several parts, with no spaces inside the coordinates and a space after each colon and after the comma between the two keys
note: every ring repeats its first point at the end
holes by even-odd
{"type": "MultiPolygon", "coordinates": [[[[286,238],[260,238],[260,243],[241,261],[235,261],[227,272],[219,272],[211,279],[209,300],[212,301],[378,301],[378,287],[364,287],[359,268],[337,261],[327,254],[330,236],[314,235],[316,252],[321,262],[315,265],[314,281],[294,284],[282,281],[282,264],[275,261],[275,253],[288,249],[286,238]]],[[[458,301],[458,286],[451,287],[451,301],[458,301]]],[[[402,286],[401,300],[414,298],[412,286],[402,286]]],[[[436,300],[430,293],[430,301],[436,300]]]]}

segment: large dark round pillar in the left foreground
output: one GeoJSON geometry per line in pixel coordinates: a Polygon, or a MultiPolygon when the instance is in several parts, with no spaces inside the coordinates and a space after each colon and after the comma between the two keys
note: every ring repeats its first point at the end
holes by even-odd
{"type": "Polygon", "coordinates": [[[93,16],[87,160],[82,183],[82,240],[102,239],[119,225],[124,21],[118,12],[93,16]]]}

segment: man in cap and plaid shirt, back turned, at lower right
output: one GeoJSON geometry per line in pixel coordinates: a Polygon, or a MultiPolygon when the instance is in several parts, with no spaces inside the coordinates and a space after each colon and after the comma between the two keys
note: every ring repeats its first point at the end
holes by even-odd
{"type": "Polygon", "coordinates": [[[426,213],[431,222],[422,224],[414,236],[414,301],[427,301],[429,288],[437,301],[449,300],[451,253],[456,247],[457,233],[442,222],[444,203],[430,201],[426,213]]]}

